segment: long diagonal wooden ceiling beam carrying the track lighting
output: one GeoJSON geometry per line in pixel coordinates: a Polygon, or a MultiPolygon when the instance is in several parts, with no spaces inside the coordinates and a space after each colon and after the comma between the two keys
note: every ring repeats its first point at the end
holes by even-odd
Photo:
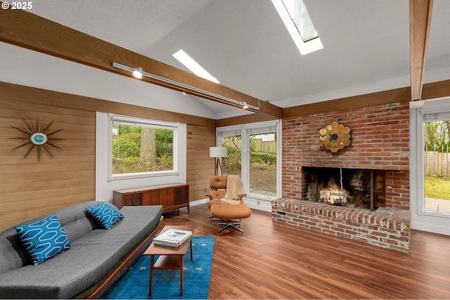
{"type": "Polygon", "coordinates": [[[219,98],[217,95],[231,98],[241,103],[245,102],[259,107],[259,110],[250,107],[248,110],[252,112],[276,119],[283,117],[283,109],[281,107],[161,63],[158,60],[153,60],[139,53],[110,44],[83,32],[65,27],[51,20],[41,18],[27,11],[1,9],[0,20],[0,41],[5,43],[71,60],[75,63],[89,65],[90,67],[96,67],[100,70],[121,74],[126,77],[134,78],[131,72],[113,67],[113,62],[129,67],[142,67],[145,72],[179,82],[185,86],[194,87],[196,90],[192,91],[191,89],[150,77],[143,77],[143,79],[140,79],[142,81],[242,108],[242,106],[219,98]]]}

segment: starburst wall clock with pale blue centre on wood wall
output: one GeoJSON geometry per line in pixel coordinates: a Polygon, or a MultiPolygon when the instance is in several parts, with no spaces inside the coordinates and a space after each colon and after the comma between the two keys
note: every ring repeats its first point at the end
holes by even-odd
{"type": "Polygon", "coordinates": [[[41,160],[41,155],[47,153],[53,158],[53,154],[51,153],[51,149],[58,148],[59,150],[63,150],[62,148],[58,147],[55,143],[57,140],[63,140],[63,138],[56,138],[54,136],[55,133],[58,133],[62,131],[63,129],[59,129],[56,131],[51,131],[50,127],[53,124],[54,121],[52,121],[47,126],[44,126],[44,124],[41,124],[38,121],[36,121],[34,124],[28,123],[25,119],[23,120],[25,122],[25,127],[18,128],[15,126],[12,126],[13,128],[17,129],[21,133],[25,134],[25,136],[20,135],[16,138],[13,138],[15,140],[24,140],[25,142],[21,145],[18,145],[17,147],[13,148],[19,149],[22,147],[28,147],[27,153],[25,153],[25,157],[27,157],[31,152],[35,152],[37,154],[37,160],[41,160]]]}

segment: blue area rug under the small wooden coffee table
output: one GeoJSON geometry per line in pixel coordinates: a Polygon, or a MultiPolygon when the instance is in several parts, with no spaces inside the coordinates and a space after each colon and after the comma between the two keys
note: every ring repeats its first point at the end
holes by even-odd
{"type": "MultiPolygon", "coordinates": [[[[207,299],[210,292],[214,237],[192,237],[193,261],[189,249],[184,256],[183,296],[179,270],[154,270],[152,296],[148,295],[150,256],[141,256],[102,299],[207,299]]],[[[156,261],[156,257],[155,257],[156,261]]]]}

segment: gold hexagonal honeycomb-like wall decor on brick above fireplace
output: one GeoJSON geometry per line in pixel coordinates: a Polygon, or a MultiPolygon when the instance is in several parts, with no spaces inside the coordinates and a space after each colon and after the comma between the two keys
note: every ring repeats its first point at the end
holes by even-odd
{"type": "Polygon", "coordinates": [[[349,126],[344,126],[338,122],[331,122],[331,124],[319,131],[319,144],[321,147],[333,153],[338,152],[338,150],[342,150],[352,143],[350,141],[351,130],[349,126]]]}

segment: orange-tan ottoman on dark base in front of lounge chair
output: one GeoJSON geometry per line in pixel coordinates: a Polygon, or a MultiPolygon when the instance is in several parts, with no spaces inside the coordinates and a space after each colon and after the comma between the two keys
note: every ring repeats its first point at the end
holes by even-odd
{"type": "Polygon", "coordinates": [[[223,227],[217,232],[218,235],[228,228],[238,230],[240,235],[243,235],[243,230],[236,226],[240,227],[240,219],[248,218],[252,214],[252,210],[245,204],[212,204],[211,214],[216,219],[224,220],[217,224],[217,226],[223,227]]]}

